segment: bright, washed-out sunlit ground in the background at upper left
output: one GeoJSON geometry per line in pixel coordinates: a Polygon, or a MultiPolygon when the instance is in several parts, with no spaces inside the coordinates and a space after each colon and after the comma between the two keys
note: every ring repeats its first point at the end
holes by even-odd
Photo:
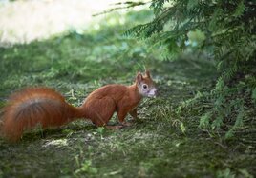
{"type": "MultiPolygon", "coordinates": [[[[121,0],[122,1],[122,0],[121,0]]],[[[64,30],[100,29],[97,23],[105,15],[93,14],[111,8],[119,0],[38,0],[0,2],[0,46],[30,43],[46,39],[64,30]],[[94,23],[92,23],[94,22],[94,23]],[[22,28],[21,28],[22,27],[22,28]]],[[[121,10],[125,13],[123,10],[121,10]]],[[[106,23],[124,23],[124,18],[108,18],[106,23]]]]}

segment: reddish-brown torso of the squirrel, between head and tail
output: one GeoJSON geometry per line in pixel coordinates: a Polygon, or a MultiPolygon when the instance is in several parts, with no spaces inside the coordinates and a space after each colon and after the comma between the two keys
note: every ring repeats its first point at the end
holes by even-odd
{"type": "Polygon", "coordinates": [[[80,110],[84,117],[89,118],[96,126],[107,125],[117,111],[119,122],[125,125],[125,116],[136,109],[141,98],[136,84],[129,87],[107,85],[92,92],[80,110]]]}

